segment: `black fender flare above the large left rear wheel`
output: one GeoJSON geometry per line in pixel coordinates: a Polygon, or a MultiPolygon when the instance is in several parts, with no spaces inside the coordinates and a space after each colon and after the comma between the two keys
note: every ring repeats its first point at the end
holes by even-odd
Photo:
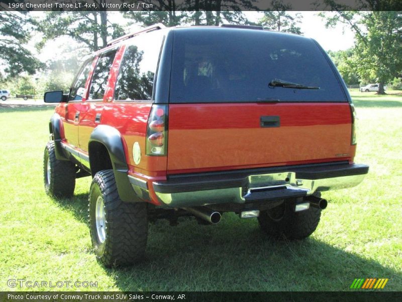
{"type": "MultiPolygon", "coordinates": [[[[129,181],[128,165],[126,163],[126,154],[124,152],[124,145],[122,135],[119,130],[108,125],[98,125],[93,129],[88,142],[88,155],[89,166],[93,167],[93,157],[91,160],[90,144],[91,142],[98,142],[103,144],[108,150],[110,160],[112,162],[113,172],[115,174],[117,191],[120,199],[124,202],[140,202],[142,201],[134,192],[133,187],[129,181]]],[[[94,173],[91,169],[92,177],[94,173]]]]}

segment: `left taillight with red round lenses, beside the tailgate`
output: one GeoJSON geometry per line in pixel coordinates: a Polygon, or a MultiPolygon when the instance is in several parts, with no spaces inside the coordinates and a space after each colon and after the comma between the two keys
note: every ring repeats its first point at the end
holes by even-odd
{"type": "Polygon", "coordinates": [[[152,105],[148,118],[146,155],[165,156],[167,153],[167,105],[152,105]]]}

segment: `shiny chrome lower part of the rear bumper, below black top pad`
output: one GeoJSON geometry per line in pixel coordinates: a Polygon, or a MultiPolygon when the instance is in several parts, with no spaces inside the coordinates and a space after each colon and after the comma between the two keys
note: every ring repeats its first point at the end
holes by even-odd
{"type": "MultiPolygon", "coordinates": [[[[169,207],[202,206],[219,203],[245,203],[245,196],[256,189],[271,189],[284,186],[289,189],[306,190],[310,196],[316,192],[351,188],[360,184],[365,174],[342,177],[331,177],[317,180],[296,179],[295,172],[250,175],[247,177],[246,188],[224,188],[214,190],[160,193],[155,192],[159,201],[169,207]]],[[[282,198],[286,198],[283,196],[282,198]]]]}

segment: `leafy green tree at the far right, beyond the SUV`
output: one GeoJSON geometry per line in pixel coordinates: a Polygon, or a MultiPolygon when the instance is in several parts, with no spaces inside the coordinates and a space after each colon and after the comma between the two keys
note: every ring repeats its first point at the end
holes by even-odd
{"type": "MultiPolygon", "coordinates": [[[[369,4],[367,2],[367,6],[369,4]]],[[[378,94],[385,94],[384,84],[402,70],[402,14],[338,11],[335,15],[324,13],[321,16],[326,18],[328,27],[342,23],[354,31],[355,47],[348,64],[361,79],[378,82],[378,94]]]]}

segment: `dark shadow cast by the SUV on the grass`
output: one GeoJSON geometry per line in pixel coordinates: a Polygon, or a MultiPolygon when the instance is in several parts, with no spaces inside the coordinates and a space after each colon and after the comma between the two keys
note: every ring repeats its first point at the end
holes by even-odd
{"type": "MultiPolygon", "coordinates": [[[[79,221],[87,219],[87,194],[58,199],[79,221]]],[[[319,226],[320,228],[320,226],[319,226]]],[[[329,245],[314,236],[273,240],[255,219],[224,214],[217,225],[182,217],[149,225],[147,259],[125,268],[104,268],[122,291],[349,290],[355,278],[389,278],[402,290],[402,273],[329,245]]]]}

